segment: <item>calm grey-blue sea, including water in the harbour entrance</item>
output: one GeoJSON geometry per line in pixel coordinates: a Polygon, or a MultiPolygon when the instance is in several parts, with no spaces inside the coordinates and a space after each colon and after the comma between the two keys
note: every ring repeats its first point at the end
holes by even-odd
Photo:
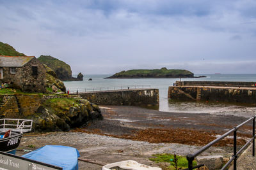
{"type": "MultiPolygon", "coordinates": [[[[205,75],[206,78],[182,78],[184,81],[256,81],[256,74],[195,74],[205,75]]],[[[74,75],[76,76],[76,75],[74,75]]],[[[68,89],[90,89],[100,87],[131,87],[132,85],[150,85],[159,89],[159,111],[176,113],[210,113],[214,115],[237,115],[252,117],[256,115],[256,107],[235,105],[227,103],[196,103],[196,102],[172,102],[167,99],[168,87],[179,78],[135,78],[135,79],[104,79],[108,74],[88,74],[84,81],[64,81],[68,89]],[[92,81],[88,81],[92,78],[92,81]]]]}

